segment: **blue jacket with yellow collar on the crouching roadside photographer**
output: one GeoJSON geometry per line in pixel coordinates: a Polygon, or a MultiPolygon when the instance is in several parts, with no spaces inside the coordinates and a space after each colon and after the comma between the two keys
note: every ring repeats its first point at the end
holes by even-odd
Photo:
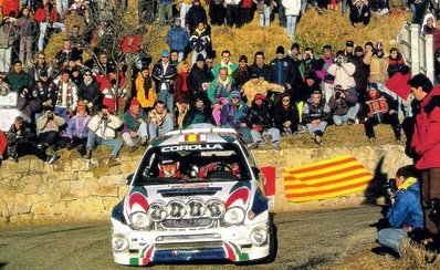
{"type": "MultiPolygon", "coordinates": [[[[415,178],[408,178],[401,186],[405,186],[405,184],[411,179],[415,178]]],[[[388,209],[387,218],[392,228],[423,228],[420,186],[417,180],[408,187],[399,187],[395,196],[395,204],[388,209]]]]}

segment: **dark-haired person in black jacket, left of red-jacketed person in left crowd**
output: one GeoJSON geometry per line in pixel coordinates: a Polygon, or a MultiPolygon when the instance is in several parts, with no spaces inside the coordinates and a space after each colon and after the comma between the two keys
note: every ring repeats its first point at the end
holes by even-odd
{"type": "Polygon", "coordinates": [[[91,70],[84,72],[84,80],[77,86],[77,98],[83,101],[92,115],[97,114],[103,105],[103,93],[99,91],[99,84],[91,70]]]}

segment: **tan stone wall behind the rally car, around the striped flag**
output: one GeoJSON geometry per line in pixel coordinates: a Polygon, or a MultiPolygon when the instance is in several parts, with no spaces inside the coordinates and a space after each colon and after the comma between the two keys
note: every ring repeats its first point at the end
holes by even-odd
{"type": "MultiPolygon", "coordinates": [[[[401,145],[378,147],[342,147],[313,149],[254,150],[260,166],[276,167],[275,211],[293,211],[324,207],[348,207],[365,202],[365,193],[334,199],[294,204],[283,194],[282,172],[293,167],[339,155],[352,154],[371,173],[384,158],[381,172],[391,177],[401,165],[411,160],[401,145]]],[[[83,159],[62,158],[49,165],[33,157],[19,163],[3,162],[0,167],[0,225],[30,222],[62,222],[108,220],[114,205],[125,195],[126,176],[140,155],[122,156],[121,165],[101,166],[83,159]]]]}

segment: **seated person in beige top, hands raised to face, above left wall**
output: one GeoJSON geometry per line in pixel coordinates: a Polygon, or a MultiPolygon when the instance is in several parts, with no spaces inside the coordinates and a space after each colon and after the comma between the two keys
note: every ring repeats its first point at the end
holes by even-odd
{"type": "Polygon", "coordinates": [[[60,136],[61,129],[64,127],[65,121],[51,110],[44,111],[36,120],[36,128],[39,131],[39,143],[41,148],[45,150],[51,147],[59,157],[56,150],[67,145],[69,138],[60,136]]]}

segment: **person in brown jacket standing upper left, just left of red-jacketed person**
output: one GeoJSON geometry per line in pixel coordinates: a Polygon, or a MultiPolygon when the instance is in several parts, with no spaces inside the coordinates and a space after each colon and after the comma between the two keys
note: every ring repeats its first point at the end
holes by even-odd
{"type": "Polygon", "coordinates": [[[19,28],[18,31],[20,34],[19,59],[29,66],[30,62],[32,61],[32,43],[33,38],[36,34],[36,22],[33,20],[29,7],[23,7],[21,9],[21,14],[22,15],[17,20],[15,23],[19,28]]]}

